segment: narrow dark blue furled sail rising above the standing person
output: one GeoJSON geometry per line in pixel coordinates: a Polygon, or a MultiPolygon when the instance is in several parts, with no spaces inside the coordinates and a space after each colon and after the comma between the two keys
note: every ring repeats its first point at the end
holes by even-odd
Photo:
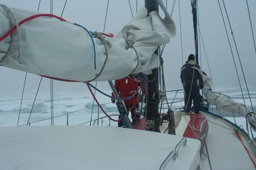
{"type": "Polygon", "coordinates": [[[198,64],[198,36],[197,36],[197,0],[191,0],[193,25],[194,25],[194,38],[195,38],[195,50],[196,50],[196,63],[198,64]]]}

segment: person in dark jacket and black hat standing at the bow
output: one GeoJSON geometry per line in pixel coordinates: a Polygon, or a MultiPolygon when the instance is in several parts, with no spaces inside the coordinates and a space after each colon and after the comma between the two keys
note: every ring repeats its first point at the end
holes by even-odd
{"type": "Polygon", "coordinates": [[[189,113],[192,99],[194,103],[195,114],[199,113],[200,109],[200,89],[203,88],[202,70],[198,64],[195,63],[195,55],[190,54],[188,61],[181,67],[181,83],[185,90],[185,113],[189,113]],[[194,74],[194,77],[193,77],[194,74]],[[191,88],[192,85],[192,88],[191,88]],[[191,89],[191,92],[190,92],[191,89]]]}

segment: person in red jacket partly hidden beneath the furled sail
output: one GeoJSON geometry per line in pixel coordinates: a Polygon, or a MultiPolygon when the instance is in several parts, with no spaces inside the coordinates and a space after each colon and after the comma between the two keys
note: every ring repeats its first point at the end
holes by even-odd
{"type": "MultiPolygon", "coordinates": [[[[142,82],[136,82],[133,79],[129,77],[125,77],[120,80],[115,81],[115,89],[117,93],[119,93],[119,98],[127,98],[132,96],[139,88],[142,82]]],[[[124,100],[125,106],[127,111],[130,110],[130,108],[133,106],[135,103],[137,97],[138,97],[139,92],[132,98],[124,100]]],[[[145,89],[144,89],[144,94],[145,94],[145,89]]],[[[114,94],[112,93],[112,96],[114,97],[114,94]]],[[[112,103],[115,103],[115,99],[111,99],[112,103]]],[[[132,124],[135,124],[135,119],[134,116],[136,115],[136,107],[138,108],[138,103],[131,109],[131,118],[132,118],[132,124]]],[[[139,118],[139,114],[136,115],[137,118],[139,118]]],[[[121,117],[119,116],[118,119],[121,117]]],[[[118,127],[124,126],[123,121],[118,122],[118,127]]]]}

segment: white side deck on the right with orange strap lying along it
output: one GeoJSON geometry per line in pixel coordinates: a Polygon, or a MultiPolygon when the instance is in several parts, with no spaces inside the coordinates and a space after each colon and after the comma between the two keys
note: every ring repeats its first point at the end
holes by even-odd
{"type": "MultiPolygon", "coordinates": [[[[202,112],[201,112],[202,113],[202,112]]],[[[217,118],[209,114],[202,113],[208,120],[229,128],[224,120],[217,118]]],[[[236,134],[228,129],[222,128],[214,123],[208,121],[209,132],[207,136],[207,146],[209,150],[212,169],[221,170],[253,170],[255,169],[253,163],[245,151],[242,143],[236,137],[236,134]]],[[[230,127],[232,127],[229,124],[230,127]]],[[[255,154],[252,144],[243,136],[243,133],[239,133],[246,148],[250,149],[255,154]]],[[[204,153],[205,148],[204,148],[204,153]]],[[[252,155],[253,157],[253,155],[252,155]]],[[[202,155],[202,159],[205,158],[202,155]]],[[[254,161],[256,159],[253,157],[254,161]]],[[[208,170],[208,159],[202,160],[202,170],[208,170]]]]}

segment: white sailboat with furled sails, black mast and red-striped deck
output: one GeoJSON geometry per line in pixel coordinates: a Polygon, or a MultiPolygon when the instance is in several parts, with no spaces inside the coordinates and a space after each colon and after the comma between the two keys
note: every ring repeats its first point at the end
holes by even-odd
{"type": "MultiPolygon", "coordinates": [[[[89,89],[93,87],[90,82],[109,81],[126,127],[0,128],[1,169],[256,169],[255,139],[223,116],[209,112],[209,108],[215,105],[240,113],[248,121],[248,129],[254,131],[255,114],[246,105],[212,91],[211,77],[204,75],[202,93],[207,103],[202,101],[200,114],[171,109],[159,114],[158,104],[166,100],[166,93],[158,89],[162,63],[156,50],[175,37],[176,28],[161,0],[145,2],[116,35],[88,31],[52,14],[1,5],[0,65],[54,80],[84,82],[89,89]],[[158,5],[164,19],[158,14],[158,5]],[[113,63],[118,64],[113,67],[113,63]],[[144,118],[134,126],[112,82],[127,75],[147,84],[147,95],[142,97],[146,107],[141,105],[139,111],[143,116],[144,110],[144,118]]],[[[191,0],[191,5],[197,21],[197,1],[191,0]]],[[[195,29],[196,48],[197,32],[195,29]]]]}

